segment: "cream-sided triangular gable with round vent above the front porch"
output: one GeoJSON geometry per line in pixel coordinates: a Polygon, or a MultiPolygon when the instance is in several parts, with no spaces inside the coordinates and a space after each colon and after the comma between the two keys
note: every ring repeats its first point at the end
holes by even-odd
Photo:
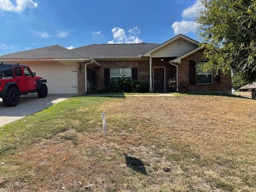
{"type": "Polygon", "coordinates": [[[152,52],[151,57],[179,57],[197,47],[197,44],[180,37],[152,52]]]}

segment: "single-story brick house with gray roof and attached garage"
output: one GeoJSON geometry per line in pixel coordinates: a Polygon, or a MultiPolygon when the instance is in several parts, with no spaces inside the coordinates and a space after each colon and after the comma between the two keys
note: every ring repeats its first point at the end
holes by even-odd
{"type": "Polygon", "coordinates": [[[69,50],[59,45],[0,56],[2,62],[27,64],[47,80],[49,94],[86,94],[91,86],[110,86],[112,78],[149,83],[149,92],[231,93],[231,74],[196,70],[204,64],[198,42],[182,34],[162,43],[92,44],[69,50]]]}

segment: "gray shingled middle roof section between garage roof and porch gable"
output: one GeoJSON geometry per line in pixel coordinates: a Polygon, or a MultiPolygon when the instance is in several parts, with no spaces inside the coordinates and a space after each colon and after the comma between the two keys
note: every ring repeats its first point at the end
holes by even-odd
{"type": "Polygon", "coordinates": [[[123,58],[138,57],[152,48],[158,46],[156,43],[141,44],[92,44],[72,51],[78,52],[87,57],[97,58],[123,58]]]}

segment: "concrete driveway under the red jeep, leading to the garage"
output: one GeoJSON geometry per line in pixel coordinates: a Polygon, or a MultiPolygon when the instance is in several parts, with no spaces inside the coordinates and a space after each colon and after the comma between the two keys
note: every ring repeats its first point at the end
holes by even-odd
{"type": "Polygon", "coordinates": [[[6,107],[0,98],[0,127],[10,122],[14,122],[27,115],[36,113],[42,109],[48,108],[58,102],[66,100],[73,95],[70,94],[52,94],[46,98],[38,98],[37,94],[20,96],[20,102],[15,107],[6,107]]]}

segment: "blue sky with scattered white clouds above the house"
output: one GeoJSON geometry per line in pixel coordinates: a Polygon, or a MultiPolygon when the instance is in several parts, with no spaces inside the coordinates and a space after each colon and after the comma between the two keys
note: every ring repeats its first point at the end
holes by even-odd
{"type": "Polygon", "coordinates": [[[199,41],[200,0],[0,0],[0,55],[60,45],[199,41]]]}

